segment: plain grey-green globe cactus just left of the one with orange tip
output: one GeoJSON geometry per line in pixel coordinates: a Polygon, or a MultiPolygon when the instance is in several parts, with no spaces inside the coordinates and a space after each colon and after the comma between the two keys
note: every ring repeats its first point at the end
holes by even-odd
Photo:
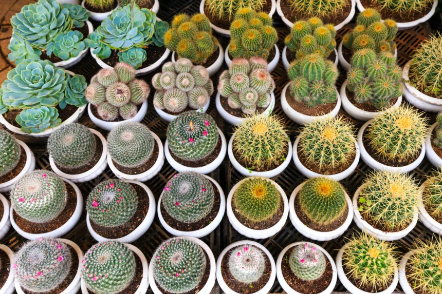
{"type": "Polygon", "coordinates": [[[147,162],[154,150],[155,139],[141,123],[118,125],[107,135],[107,148],[112,160],[124,167],[138,167],[147,162]]]}

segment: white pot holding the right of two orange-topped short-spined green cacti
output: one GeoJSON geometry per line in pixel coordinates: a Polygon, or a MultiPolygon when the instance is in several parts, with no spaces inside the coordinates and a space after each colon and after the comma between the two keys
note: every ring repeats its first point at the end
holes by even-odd
{"type": "MultiPolygon", "coordinates": [[[[303,234],[305,237],[311,239],[311,240],[318,240],[318,241],[328,241],[333,240],[338,237],[340,237],[350,226],[353,220],[353,205],[352,200],[348,197],[347,193],[345,193],[345,200],[347,201],[348,206],[348,214],[347,218],[345,219],[344,223],[337,229],[333,231],[328,232],[321,232],[316,231],[314,229],[311,229],[307,227],[296,214],[296,211],[294,210],[294,199],[296,198],[296,195],[301,190],[301,188],[305,185],[305,182],[296,187],[293,192],[291,193],[290,200],[288,203],[289,207],[289,217],[290,221],[293,224],[294,228],[299,231],[301,234],[303,234]]],[[[288,248],[287,248],[288,249],[288,248]]],[[[332,288],[333,289],[333,288],[332,288]]]]}

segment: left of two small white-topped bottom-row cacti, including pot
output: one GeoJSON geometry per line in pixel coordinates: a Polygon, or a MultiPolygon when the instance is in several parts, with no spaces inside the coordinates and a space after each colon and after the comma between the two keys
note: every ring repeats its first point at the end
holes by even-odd
{"type": "Polygon", "coordinates": [[[216,262],[216,280],[226,294],[269,293],[276,271],[271,253],[253,241],[228,245],[216,262]]]}

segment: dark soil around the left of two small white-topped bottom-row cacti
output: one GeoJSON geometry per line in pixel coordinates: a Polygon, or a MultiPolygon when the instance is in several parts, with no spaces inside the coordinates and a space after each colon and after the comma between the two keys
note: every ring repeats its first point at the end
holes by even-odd
{"type": "Polygon", "coordinates": [[[236,247],[233,247],[232,249],[227,251],[223,257],[222,262],[221,262],[221,274],[223,275],[224,282],[226,282],[227,286],[230,289],[232,289],[233,291],[235,291],[237,293],[241,293],[241,294],[251,294],[251,293],[261,290],[269,281],[270,274],[272,271],[271,265],[270,265],[270,260],[267,257],[267,254],[264,251],[262,251],[260,248],[256,247],[258,250],[261,250],[261,252],[264,256],[264,259],[265,259],[263,275],[261,276],[261,278],[254,281],[253,283],[243,283],[243,282],[236,280],[235,278],[233,278],[230,275],[229,257],[235,248],[236,247]]]}

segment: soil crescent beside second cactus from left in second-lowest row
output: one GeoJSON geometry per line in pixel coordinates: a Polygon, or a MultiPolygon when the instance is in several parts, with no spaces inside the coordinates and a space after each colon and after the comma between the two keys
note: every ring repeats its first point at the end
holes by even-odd
{"type": "Polygon", "coordinates": [[[138,196],[138,204],[137,210],[135,210],[134,215],[130,218],[127,223],[116,226],[116,227],[103,227],[96,224],[89,216],[90,226],[94,229],[94,231],[99,234],[101,237],[107,239],[117,239],[122,238],[133,230],[135,230],[145,219],[146,214],[148,214],[149,210],[149,195],[146,190],[140,185],[129,183],[132,187],[137,191],[138,196]]]}

